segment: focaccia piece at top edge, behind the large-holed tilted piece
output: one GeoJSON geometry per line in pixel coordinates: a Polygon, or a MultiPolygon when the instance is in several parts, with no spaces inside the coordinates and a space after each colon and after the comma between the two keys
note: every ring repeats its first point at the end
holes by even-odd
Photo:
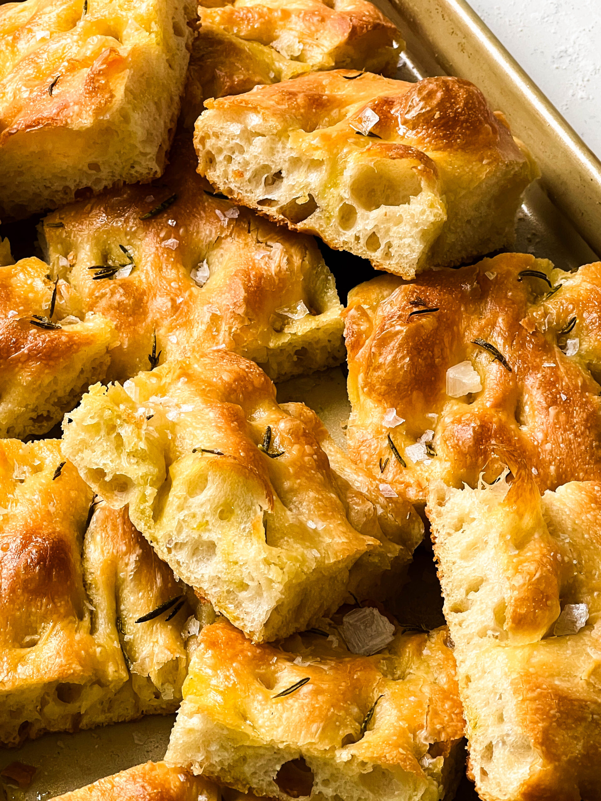
{"type": "Polygon", "coordinates": [[[405,42],[365,0],[200,2],[184,117],[193,126],[204,100],[240,95],[317,70],[345,67],[393,78],[405,42]]]}

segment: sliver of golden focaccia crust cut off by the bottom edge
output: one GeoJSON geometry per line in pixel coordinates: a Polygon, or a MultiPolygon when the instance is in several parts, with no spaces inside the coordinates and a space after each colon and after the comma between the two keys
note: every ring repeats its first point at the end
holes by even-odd
{"type": "Polygon", "coordinates": [[[147,762],[51,801],[221,801],[216,784],[181,767],[147,762]]]}

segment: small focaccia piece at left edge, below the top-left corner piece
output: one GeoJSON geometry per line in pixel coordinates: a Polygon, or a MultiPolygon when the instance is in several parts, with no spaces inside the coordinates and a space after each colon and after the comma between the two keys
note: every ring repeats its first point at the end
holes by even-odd
{"type": "Polygon", "coordinates": [[[85,314],[47,264],[0,266],[0,437],[49,431],[103,380],[114,344],[111,320],[85,314]]]}

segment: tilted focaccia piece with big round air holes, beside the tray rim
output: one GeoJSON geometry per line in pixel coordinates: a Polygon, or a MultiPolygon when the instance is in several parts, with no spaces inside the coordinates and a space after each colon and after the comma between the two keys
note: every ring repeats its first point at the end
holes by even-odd
{"type": "Polygon", "coordinates": [[[510,244],[537,175],[502,115],[459,78],[332,70],[206,106],[201,175],[404,278],[510,244]]]}

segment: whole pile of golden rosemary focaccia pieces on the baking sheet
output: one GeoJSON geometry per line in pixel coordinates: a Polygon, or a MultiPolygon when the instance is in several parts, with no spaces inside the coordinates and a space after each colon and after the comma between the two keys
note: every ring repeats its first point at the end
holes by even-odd
{"type": "Polygon", "coordinates": [[[0,743],[177,712],[70,801],[601,799],[601,264],[510,252],[502,113],[367,0],[0,44],[0,743]],[[276,394],[340,365],[344,430],[276,394]]]}

